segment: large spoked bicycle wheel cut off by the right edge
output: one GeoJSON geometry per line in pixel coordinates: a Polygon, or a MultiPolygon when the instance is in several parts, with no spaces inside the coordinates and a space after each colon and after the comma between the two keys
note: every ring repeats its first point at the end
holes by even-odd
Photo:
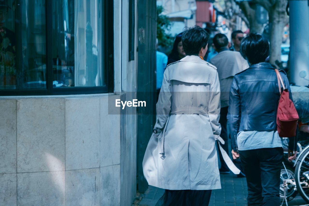
{"type": "Polygon", "coordinates": [[[309,203],[309,148],[298,158],[295,168],[295,182],[299,194],[309,203]]]}

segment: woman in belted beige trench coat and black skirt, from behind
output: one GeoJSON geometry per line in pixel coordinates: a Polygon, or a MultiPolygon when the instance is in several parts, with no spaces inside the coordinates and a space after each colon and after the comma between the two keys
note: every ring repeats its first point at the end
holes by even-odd
{"type": "Polygon", "coordinates": [[[182,35],[187,56],[167,66],[148,143],[144,176],[166,189],[157,205],[208,205],[220,189],[215,140],[221,127],[216,67],[202,58],[209,34],[195,26],[182,35]]]}

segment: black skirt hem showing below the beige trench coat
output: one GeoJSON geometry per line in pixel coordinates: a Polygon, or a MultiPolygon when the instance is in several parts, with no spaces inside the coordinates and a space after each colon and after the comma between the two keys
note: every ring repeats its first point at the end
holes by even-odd
{"type": "Polygon", "coordinates": [[[155,206],[208,206],[211,190],[165,190],[155,206]]]}

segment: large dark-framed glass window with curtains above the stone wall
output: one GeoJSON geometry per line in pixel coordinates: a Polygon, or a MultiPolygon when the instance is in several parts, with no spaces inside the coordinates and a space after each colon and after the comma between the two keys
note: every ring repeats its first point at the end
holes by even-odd
{"type": "Polygon", "coordinates": [[[102,0],[0,0],[0,95],[112,91],[112,8],[102,0]]]}

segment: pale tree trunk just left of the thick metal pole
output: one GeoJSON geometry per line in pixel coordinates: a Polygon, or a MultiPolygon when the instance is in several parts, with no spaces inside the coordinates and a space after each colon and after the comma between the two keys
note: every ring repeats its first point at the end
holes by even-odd
{"type": "Polygon", "coordinates": [[[281,44],[283,28],[288,22],[286,15],[286,4],[285,0],[277,0],[273,6],[273,10],[269,13],[269,22],[271,26],[271,37],[270,37],[270,63],[275,64],[278,60],[281,62],[281,44]]]}

